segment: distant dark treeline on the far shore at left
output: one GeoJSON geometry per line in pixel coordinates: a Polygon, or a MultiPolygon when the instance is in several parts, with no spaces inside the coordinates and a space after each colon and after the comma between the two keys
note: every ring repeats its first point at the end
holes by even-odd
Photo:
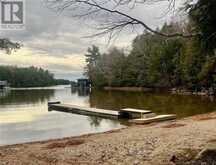
{"type": "Polygon", "coordinates": [[[37,67],[21,68],[0,66],[0,80],[7,81],[10,87],[46,87],[70,84],[69,80],[55,79],[48,70],[37,67]]]}

